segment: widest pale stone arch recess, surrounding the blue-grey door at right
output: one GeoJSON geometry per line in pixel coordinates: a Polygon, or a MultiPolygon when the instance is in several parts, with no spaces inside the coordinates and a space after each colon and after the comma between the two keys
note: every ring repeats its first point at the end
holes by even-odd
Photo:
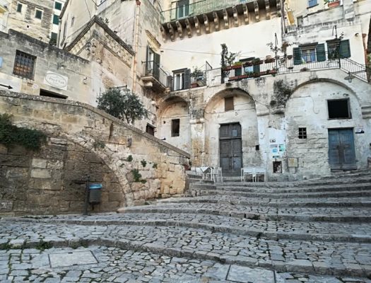
{"type": "MultiPolygon", "coordinates": [[[[367,127],[360,97],[345,83],[334,79],[315,79],[300,83],[285,105],[286,153],[299,158],[298,178],[330,173],[329,129],[367,127]],[[327,100],[348,99],[349,119],[329,119],[327,100]],[[305,128],[306,139],[299,139],[299,128],[305,128]]],[[[365,135],[354,135],[357,166],[366,166],[368,142],[365,135]],[[364,160],[363,160],[364,159],[364,160]]]]}

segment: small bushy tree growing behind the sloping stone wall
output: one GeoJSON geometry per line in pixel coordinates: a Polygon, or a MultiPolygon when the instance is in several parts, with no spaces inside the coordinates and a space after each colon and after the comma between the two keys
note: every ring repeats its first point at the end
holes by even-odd
{"type": "Polygon", "coordinates": [[[97,99],[98,109],[108,114],[126,120],[128,124],[135,120],[148,118],[148,112],[143,103],[134,93],[130,91],[120,91],[118,88],[111,88],[97,99]]]}

